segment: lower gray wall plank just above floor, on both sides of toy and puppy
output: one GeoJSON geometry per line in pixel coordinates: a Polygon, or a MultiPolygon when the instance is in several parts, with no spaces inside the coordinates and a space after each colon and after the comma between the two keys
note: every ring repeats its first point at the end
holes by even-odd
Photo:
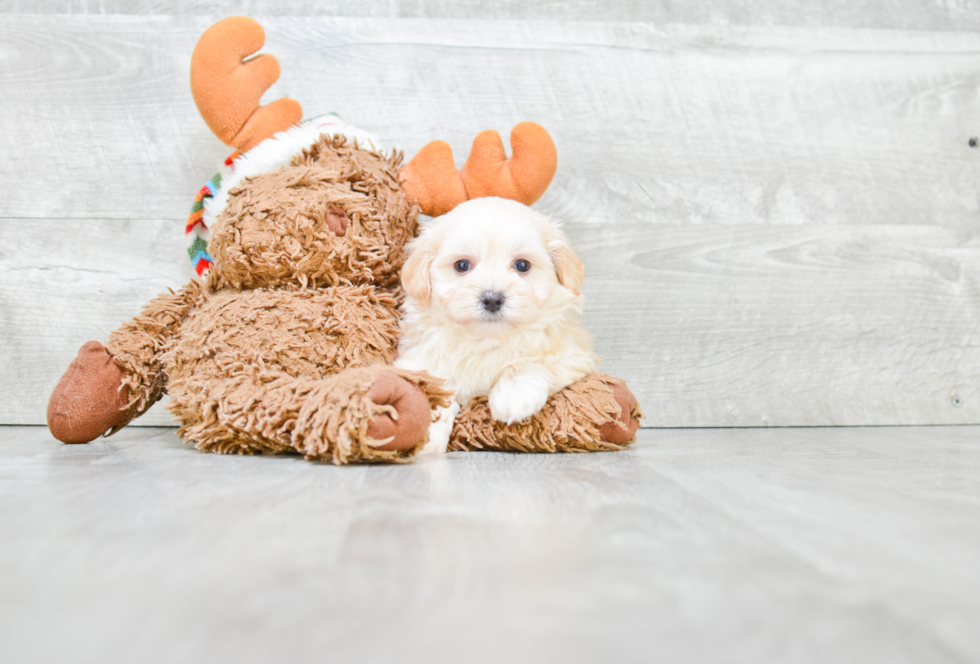
{"type": "MultiPolygon", "coordinates": [[[[0,245],[28,250],[2,272],[16,334],[0,356],[13,379],[0,421],[43,423],[82,343],[190,277],[172,222],[65,223],[0,226],[0,245]]],[[[614,219],[566,229],[588,268],[585,320],[602,369],[629,382],[646,426],[980,421],[976,238],[614,219]]],[[[158,408],[138,422],[170,418],[158,408]]]]}

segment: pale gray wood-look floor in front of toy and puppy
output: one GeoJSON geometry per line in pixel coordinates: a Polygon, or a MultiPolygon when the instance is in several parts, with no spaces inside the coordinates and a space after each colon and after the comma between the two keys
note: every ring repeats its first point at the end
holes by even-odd
{"type": "Polygon", "coordinates": [[[3,662],[980,660],[980,427],[403,467],[0,428],[3,662]]]}

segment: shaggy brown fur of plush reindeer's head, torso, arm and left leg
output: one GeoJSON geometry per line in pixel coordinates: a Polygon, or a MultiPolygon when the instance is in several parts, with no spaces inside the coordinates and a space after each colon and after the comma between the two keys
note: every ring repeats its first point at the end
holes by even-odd
{"type": "Polygon", "coordinates": [[[400,164],[324,137],[233,189],[212,229],[206,287],[157,298],[112,335],[131,394],[125,421],[166,389],[179,434],[203,450],[333,463],[413,455],[446,393],[386,366],[398,347],[397,274],[418,231],[400,164]]]}

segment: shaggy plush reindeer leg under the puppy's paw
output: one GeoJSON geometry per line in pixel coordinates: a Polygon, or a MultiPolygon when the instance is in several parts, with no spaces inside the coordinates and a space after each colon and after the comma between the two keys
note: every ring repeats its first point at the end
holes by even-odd
{"type": "Polygon", "coordinates": [[[493,419],[485,397],[456,418],[450,450],[598,452],[621,450],[636,437],[640,413],[625,383],[593,374],[552,394],[536,415],[514,424],[493,419]]]}

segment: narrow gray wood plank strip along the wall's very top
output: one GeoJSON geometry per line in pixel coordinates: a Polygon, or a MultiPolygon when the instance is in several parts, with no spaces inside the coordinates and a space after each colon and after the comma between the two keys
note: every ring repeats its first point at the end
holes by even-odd
{"type": "Polygon", "coordinates": [[[0,13],[646,21],[975,31],[976,0],[0,0],[0,13]]]}

